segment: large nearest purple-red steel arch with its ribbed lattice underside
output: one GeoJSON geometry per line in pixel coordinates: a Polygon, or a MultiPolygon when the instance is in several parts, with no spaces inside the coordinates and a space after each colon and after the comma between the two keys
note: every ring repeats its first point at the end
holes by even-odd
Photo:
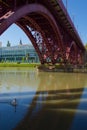
{"type": "Polygon", "coordinates": [[[60,52],[63,51],[63,42],[56,20],[46,7],[36,3],[21,7],[13,12],[10,17],[4,20],[4,22],[2,22],[0,34],[2,34],[13,23],[16,23],[18,26],[20,26],[30,38],[39,55],[41,63],[48,61],[52,63],[56,62],[58,57],[57,50],[59,49],[60,52]],[[37,16],[40,16],[42,20],[44,19],[43,22],[46,22],[46,26],[49,26],[49,32],[43,28],[43,24],[41,25],[41,23],[38,22],[36,18],[37,16]],[[33,21],[33,23],[31,23],[31,21],[33,21]],[[37,35],[41,35],[41,44],[44,46],[43,48],[45,54],[43,53],[43,49],[41,51],[40,46],[36,45],[36,37],[34,37],[32,34],[32,29],[37,32],[37,35]],[[54,58],[55,56],[56,58],[54,58]]]}

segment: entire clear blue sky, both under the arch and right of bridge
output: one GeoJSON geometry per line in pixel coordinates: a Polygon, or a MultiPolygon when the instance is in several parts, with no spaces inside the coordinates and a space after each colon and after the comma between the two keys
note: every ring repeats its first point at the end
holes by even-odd
{"type": "MultiPolygon", "coordinates": [[[[62,0],[74,22],[82,42],[87,43],[87,0],[62,0]]],[[[1,36],[3,46],[10,41],[11,45],[18,45],[20,40],[23,44],[31,44],[26,34],[15,24],[12,24],[1,36]]]]}

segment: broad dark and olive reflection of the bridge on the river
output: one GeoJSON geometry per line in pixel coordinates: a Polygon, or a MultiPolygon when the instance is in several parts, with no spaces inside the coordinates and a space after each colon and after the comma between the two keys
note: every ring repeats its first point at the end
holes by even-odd
{"type": "Polygon", "coordinates": [[[68,130],[80,102],[85,79],[78,74],[56,73],[40,73],[39,79],[28,113],[15,130],[68,130]]]}

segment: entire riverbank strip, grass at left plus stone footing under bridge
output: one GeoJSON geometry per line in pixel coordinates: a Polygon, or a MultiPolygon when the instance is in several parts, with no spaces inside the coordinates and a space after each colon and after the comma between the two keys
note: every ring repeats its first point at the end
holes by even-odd
{"type": "Polygon", "coordinates": [[[29,67],[38,68],[43,72],[68,72],[68,73],[87,73],[87,67],[72,67],[63,65],[41,65],[40,63],[0,63],[0,67],[29,67]]]}

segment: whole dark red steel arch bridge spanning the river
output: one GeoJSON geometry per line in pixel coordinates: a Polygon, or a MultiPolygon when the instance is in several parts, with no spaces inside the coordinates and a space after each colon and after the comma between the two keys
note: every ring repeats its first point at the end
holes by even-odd
{"type": "Polygon", "coordinates": [[[41,64],[84,62],[85,47],[62,0],[0,0],[0,35],[13,23],[29,37],[41,64]]]}

